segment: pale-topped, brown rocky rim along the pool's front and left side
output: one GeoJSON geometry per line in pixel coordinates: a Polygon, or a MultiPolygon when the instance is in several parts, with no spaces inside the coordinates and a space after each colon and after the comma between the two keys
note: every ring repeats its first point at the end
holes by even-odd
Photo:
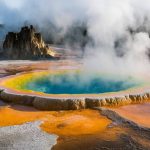
{"type": "Polygon", "coordinates": [[[0,80],[0,98],[5,102],[33,106],[39,110],[78,110],[103,106],[122,106],[147,102],[150,99],[149,86],[131,88],[103,94],[45,94],[34,91],[15,90],[4,86],[5,80],[18,77],[19,73],[0,80]]]}

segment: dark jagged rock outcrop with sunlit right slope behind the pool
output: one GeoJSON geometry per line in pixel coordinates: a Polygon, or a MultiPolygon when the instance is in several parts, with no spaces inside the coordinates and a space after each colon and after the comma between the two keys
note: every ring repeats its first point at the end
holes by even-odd
{"type": "Polygon", "coordinates": [[[33,59],[55,57],[40,33],[34,27],[23,27],[19,33],[9,32],[3,43],[3,54],[10,59],[33,59]]]}

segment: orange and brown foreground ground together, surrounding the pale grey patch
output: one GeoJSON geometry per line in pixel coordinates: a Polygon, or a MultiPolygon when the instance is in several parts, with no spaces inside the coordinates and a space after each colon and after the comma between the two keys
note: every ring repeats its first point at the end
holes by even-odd
{"type": "Polygon", "coordinates": [[[130,128],[112,126],[96,110],[38,111],[18,105],[0,106],[0,126],[42,120],[42,130],[59,136],[53,150],[133,149],[149,146],[149,140],[130,128]],[[139,136],[139,137],[138,137],[139,136]],[[134,140],[133,140],[134,139],[134,140]],[[142,144],[142,145],[139,145],[142,144]]]}

